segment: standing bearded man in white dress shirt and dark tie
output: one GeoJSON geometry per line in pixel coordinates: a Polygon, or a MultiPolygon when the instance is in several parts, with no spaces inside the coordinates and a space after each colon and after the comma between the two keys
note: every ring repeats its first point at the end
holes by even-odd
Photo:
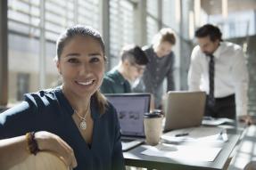
{"type": "Polygon", "coordinates": [[[195,36],[198,45],[191,55],[188,86],[191,91],[208,94],[205,115],[248,118],[245,115],[249,78],[241,47],[223,42],[219,28],[211,24],[198,28],[195,36]]]}

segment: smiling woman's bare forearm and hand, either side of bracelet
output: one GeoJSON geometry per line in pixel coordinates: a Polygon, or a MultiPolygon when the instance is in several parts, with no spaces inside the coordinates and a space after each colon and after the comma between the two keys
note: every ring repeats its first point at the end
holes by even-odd
{"type": "MultiPolygon", "coordinates": [[[[35,140],[39,150],[53,152],[62,158],[67,166],[77,166],[73,150],[59,136],[48,132],[37,132],[35,140]]],[[[30,154],[26,135],[0,140],[0,169],[9,169],[20,164],[30,154]]]]}

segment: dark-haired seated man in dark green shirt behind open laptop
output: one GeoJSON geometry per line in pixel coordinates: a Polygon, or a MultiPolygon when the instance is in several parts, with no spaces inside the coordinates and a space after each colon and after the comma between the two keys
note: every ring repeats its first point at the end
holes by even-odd
{"type": "Polygon", "coordinates": [[[119,65],[103,78],[102,93],[131,93],[131,85],[141,77],[148,59],[137,45],[124,46],[120,53],[119,65]]]}

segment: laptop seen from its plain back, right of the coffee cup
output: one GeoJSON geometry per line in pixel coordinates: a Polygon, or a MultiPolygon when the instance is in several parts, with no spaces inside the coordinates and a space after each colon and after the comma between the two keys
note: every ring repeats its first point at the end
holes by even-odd
{"type": "Polygon", "coordinates": [[[201,125],[205,100],[205,92],[168,92],[164,103],[166,119],[163,131],[201,125]]]}

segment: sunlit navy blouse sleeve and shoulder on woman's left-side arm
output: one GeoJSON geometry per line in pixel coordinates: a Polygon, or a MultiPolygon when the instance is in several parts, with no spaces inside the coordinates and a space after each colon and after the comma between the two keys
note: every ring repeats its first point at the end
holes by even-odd
{"type": "Polygon", "coordinates": [[[56,89],[47,89],[25,94],[24,101],[0,114],[0,134],[21,135],[26,131],[50,125],[49,120],[53,120],[53,116],[59,113],[56,107],[56,92],[56,89]]]}

